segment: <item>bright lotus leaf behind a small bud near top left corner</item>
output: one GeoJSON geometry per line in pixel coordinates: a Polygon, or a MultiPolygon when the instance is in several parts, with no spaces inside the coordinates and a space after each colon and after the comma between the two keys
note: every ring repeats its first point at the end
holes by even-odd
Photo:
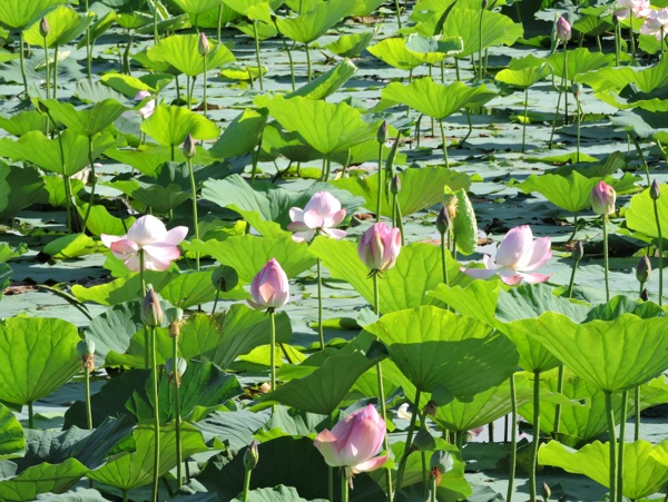
{"type": "MultiPolygon", "coordinates": [[[[47,47],[60,47],[71,42],[86,31],[94,17],[92,12],[79,14],[69,6],[58,6],[49,10],[43,16],[50,27],[46,38],[47,47]]],[[[39,32],[40,22],[41,19],[36,19],[23,31],[23,38],[31,46],[45,47],[45,38],[39,32]]]]}

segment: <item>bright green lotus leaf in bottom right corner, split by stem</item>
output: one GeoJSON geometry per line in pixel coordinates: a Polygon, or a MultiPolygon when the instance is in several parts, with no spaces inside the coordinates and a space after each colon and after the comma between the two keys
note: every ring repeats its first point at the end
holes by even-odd
{"type": "MultiPolygon", "coordinates": [[[[668,465],[655,459],[655,451],[665,452],[667,449],[668,440],[656,446],[647,441],[625,443],[622,494],[626,498],[642,499],[666,485],[668,465]]],[[[561,467],[576,474],[584,474],[606,488],[609,488],[610,484],[610,443],[595,441],[579,451],[574,451],[557,441],[550,441],[538,451],[538,463],[561,467]]]]}

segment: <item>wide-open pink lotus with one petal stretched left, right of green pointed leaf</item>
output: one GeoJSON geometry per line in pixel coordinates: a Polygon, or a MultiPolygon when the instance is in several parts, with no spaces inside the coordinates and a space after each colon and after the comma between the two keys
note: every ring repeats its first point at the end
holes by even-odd
{"type": "Polygon", "coordinates": [[[522,280],[527,283],[544,283],[549,275],[532,273],[544,265],[552,257],[550,237],[541,237],[533,240],[533,234],[529,225],[522,225],[505,234],[497,249],[495,262],[489,255],[484,255],[482,263],[484,268],[462,268],[470,277],[487,279],[499,274],[501,280],[512,286],[522,280]]]}

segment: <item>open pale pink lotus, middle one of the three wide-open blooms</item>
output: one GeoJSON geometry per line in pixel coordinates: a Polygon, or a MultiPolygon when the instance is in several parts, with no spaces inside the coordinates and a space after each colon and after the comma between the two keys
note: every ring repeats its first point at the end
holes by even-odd
{"type": "Polygon", "coordinates": [[[341,203],[328,191],[318,191],[311,197],[304,209],[292,207],[289,209],[292,223],[287,229],[295,232],[293,240],[297,243],[310,242],[316,232],[341,239],[345,237],[344,230],[337,230],[336,225],[345,218],[345,209],[341,203]]]}

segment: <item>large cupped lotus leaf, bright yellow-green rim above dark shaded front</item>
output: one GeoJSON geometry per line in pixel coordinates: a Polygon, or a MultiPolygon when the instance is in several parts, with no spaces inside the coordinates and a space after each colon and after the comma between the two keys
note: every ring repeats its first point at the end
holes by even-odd
{"type": "Polygon", "coordinates": [[[480,321],[433,306],[386,314],[365,326],[387,346],[390,357],[422,392],[443,388],[472,397],[514,373],[513,344],[480,321]]]}

